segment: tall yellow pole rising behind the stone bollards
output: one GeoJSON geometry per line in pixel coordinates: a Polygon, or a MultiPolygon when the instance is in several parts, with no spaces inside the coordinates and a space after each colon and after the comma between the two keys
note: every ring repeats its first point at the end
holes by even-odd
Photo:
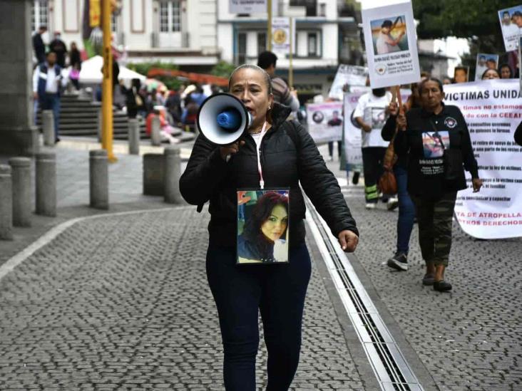
{"type": "Polygon", "coordinates": [[[107,151],[109,162],[116,162],[113,154],[113,53],[111,50],[111,0],[101,0],[103,31],[103,83],[101,147],[107,151]]]}

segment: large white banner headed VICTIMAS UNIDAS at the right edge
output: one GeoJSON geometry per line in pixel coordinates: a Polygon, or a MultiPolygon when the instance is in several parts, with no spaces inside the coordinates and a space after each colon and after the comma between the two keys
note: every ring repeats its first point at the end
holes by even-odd
{"type": "Polygon", "coordinates": [[[522,147],[513,141],[522,121],[518,80],[483,80],[444,85],[445,103],[461,109],[483,180],[480,192],[457,195],[455,213],[462,229],[481,239],[522,236],[522,147]]]}

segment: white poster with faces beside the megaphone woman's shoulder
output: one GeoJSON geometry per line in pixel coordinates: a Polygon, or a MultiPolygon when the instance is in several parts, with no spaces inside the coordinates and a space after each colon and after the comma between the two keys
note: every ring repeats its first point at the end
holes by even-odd
{"type": "Polygon", "coordinates": [[[342,102],[307,104],[308,131],[316,144],[342,139],[342,102]]]}

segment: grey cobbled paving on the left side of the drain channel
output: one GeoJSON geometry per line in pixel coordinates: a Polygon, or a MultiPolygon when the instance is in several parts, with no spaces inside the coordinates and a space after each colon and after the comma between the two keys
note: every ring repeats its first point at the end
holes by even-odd
{"type": "MultiPolygon", "coordinates": [[[[140,157],[118,155],[111,213],[89,209],[88,155],[65,146],[56,148],[58,217],[36,218],[31,229],[16,229],[14,242],[0,242],[1,254],[12,256],[51,226],[82,218],[10,273],[0,271],[0,389],[222,390],[218,316],[205,275],[206,208],[198,214],[141,195],[140,157]]],[[[372,389],[375,380],[361,375],[372,370],[359,347],[353,353],[347,345],[350,326],[337,319],[317,261],[292,390],[372,389]]]]}

